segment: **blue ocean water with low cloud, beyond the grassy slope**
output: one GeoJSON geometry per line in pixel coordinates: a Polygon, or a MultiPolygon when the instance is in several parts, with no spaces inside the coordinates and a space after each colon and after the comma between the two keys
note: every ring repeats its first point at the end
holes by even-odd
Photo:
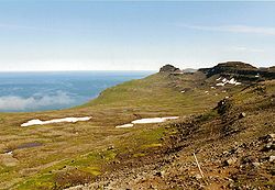
{"type": "Polygon", "coordinates": [[[0,112],[59,110],[82,104],[106,88],[153,71],[0,72],[0,112]]]}

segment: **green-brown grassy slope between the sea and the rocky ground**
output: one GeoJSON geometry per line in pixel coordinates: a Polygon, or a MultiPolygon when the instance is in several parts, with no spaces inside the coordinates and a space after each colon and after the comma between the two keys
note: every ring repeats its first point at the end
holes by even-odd
{"type": "MultiPolygon", "coordinates": [[[[229,93],[210,90],[211,81],[204,76],[156,74],[106,89],[97,99],[72,109],[32,113],[0,113],[0,153],[14,149],[19,164],[7,167],[0,158],[0,189],[53,189],[75,185],[75,176],[91,180],[105,170],[102,166],[120,154],[145,156],[146,149],[157,148],[165,128],[142,124],[132,128],[114,128],[136,118],[174,116],[200,113],[216,105],[229,93]],[[182,90],[186,90],[182,93],[182,90]],[[209,94],[205,91],[209,90],[209,94]],[[217,93],[217,96],[216,96],[217,93]],[[50,120],[65,116],[87,116],[88,122],[58,123],[21,127],[32,119],[50,120]],[[16,149],[24,143],[41,146],[16,149]],[[114,145],[116,149],[107,150],[114,145]],[[145,149],[145,152],[144,152],[145,149]],[[74,160],[74,161],[73,161],[74,160]],[[72,163],[73,161],[73,163],[72,163]],[[65,167],[66,166],[66,167],[65,167]],[[78,168],[75,171],[74,168],[78,168]],[[73,169],[73,170],[70,170],[73,169]],[[69,181],[58,176],[69,174],[69,181]],[[64,183],[65,182],[65,183],[64,183]]],[[[211,115],[209,115],[211,116],[211,115]]]]}

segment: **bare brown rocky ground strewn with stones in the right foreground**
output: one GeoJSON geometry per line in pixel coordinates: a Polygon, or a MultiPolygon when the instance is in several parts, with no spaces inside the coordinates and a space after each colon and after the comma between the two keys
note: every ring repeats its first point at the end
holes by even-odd
{"type": "Polygon", "coordinates": [[[275,189],[274,85],[251,86],[202,115],[166,124],[163,147],[121,156],[94,182],[69,190],[275,189]]]}

